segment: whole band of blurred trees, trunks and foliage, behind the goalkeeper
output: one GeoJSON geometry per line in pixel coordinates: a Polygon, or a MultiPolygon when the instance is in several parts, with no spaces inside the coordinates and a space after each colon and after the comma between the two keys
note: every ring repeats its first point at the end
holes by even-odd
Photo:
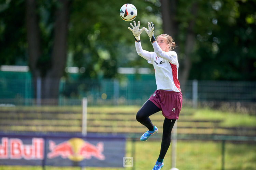
{"type": "MultiPolygon", "coordinates": [[[[134,48],[125,1],[0,1],[0,64],[29,65],[44,98],[58,96],[65,66],[81,78],[113,78],[118,67],[151,67],[134,48]],[[68,60],[66,60],[68,59],[68,60]],[[53,79],[56,82],[51,82],[53,79]]],[[[255,0],[131,0],[136,21],[175,39],[180,80],[256,80],[255,0]]],[[[143,49],[152,51],[145,32],[143,49]]]]}

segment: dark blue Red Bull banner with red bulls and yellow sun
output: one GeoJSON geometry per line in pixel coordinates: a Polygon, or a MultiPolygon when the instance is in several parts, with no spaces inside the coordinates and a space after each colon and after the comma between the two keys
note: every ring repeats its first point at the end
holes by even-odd
{"type": "Polygon", "coordinates": [[[125,141],[116,136],[0,136],[0,165],[123,167],[125,141]]]}

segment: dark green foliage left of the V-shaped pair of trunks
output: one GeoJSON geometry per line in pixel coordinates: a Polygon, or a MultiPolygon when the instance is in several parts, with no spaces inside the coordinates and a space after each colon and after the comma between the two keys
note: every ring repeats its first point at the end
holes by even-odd
{"type": "Polygon", "coordinates": [[[25,3],[0,2],[0,65],[27,65],[25,3]]]}

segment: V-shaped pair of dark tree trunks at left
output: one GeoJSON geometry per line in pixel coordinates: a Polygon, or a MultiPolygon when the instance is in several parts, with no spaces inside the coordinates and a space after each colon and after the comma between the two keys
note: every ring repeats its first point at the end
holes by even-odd
{"type": "MultiPolygon", "coordinates": [[[[47,70],[41,83],[41,98],[58,99],[59,81],[63,76],[67,56],[67,32],[69,0],[59,0],[59,6],[55,13],[54,44],[51,55],[51,68],[47,70]]],[[[29,67],[34,82],[34,96],[37,97],[37,78],[43,74],[37,68],[37,62],[41,55],[40,31],[35,0],[26,0],[26,24],[28,39],[29,67]]],[[[39,63],[40,64],[40,63],[39,63]]],[[[56,100],[57,101],[57,100],[56,100]]]]}

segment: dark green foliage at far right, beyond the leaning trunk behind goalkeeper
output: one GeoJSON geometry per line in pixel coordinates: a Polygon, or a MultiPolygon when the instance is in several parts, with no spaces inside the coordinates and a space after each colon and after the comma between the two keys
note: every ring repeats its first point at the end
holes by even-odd
{"type": "Polygon", "coordinates": [[[256,80],[255,1],[222,0],[210,5],[212,12],[202,25],[205,31],[197,34],[190,79],[256,80]]]}

